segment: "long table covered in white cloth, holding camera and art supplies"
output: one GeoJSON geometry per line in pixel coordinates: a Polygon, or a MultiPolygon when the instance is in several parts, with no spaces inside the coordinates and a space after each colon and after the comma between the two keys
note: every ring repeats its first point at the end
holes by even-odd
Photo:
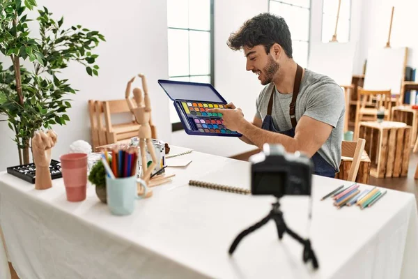
{"type": "MultiPolygon", "coordinates": [[[[84,202],[71,203],[62,179],[34,190],[1,173],[0,225],[20,278],[418,278],[413,195],[389,190],[370,209],[337,210],[320,197],[350,183],[314,176],[310,239],[320,264],[314,271],[302,262],[299,243],[287,234],[278,240],[272,221],[229,257],[235,236],[267,215],[274,199],[187,186],[196,179],[249,188],[250,165],[195,151],[182,158],[193,162],[168,169],[176,173],[173,182],[154,188],[123,217],[109,213],[93,186],[84,202]]],[[[281,199],[288,227],[304,237],[308,201],[281,199]]]]}

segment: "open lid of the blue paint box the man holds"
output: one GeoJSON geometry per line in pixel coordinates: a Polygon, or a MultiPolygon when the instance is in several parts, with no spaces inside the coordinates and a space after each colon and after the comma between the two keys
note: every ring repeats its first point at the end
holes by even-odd
{"type": "Polygon", "coordinates": [[[158,80],[171,100],[194,100],[208,103],[226,103],[221,94],[211,84],[197,82],[176,82],[158,80]]]}

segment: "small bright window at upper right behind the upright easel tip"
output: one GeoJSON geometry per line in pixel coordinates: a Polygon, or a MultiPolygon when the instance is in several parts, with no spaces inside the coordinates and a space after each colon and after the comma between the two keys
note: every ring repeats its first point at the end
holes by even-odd
{"type": "MultiPolygon", "coordinates": [[[[336,15],[339,0],[323,0],[323,32],[322,41],[328,43],[332,40],[335,31],[336,15]]],[[[350,40],[351,0],[341,0],[336,40],[347,43],[350,40]]]]}

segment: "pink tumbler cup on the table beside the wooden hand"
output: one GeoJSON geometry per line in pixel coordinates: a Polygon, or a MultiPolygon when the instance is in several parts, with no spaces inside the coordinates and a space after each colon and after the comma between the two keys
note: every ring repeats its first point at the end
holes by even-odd
{"type": "Polygon", "coordinates": [[[68,153],[60,157],[65,192],[69,202],[86,199],[87,154],[68,153]]]}

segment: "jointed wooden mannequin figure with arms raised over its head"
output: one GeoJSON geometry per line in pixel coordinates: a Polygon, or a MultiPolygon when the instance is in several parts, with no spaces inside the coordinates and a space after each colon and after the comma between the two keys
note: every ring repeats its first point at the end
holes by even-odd
{"type": "Polygon", "coordinates": [[[150,126],[150,118],[151,118],[151,101],[150,97],[148,96],[148,87],[146,86],[146,80],[144,75],[139,74],[139,77],[142,79],[142,86],[144,88],[144,98],[142,96],[142,91],[140,88],[136,87],[133,90],[134,93],[134,100],[136,105],[130,99],[130,87],[132,82],[134,82],[135,77],[127,83],[126,91],[125,91],[125,98],[127,105],[130,108],[132,114],[134,114],[137,123],[139,124],[138,130],[138,137],[139,137],[139,149],[141,152],[141,168],[142,168],[142,175],[141,179],[148,184],[150,181],[150,174],[155,169],[157,165],[157,157],[155,156],[155,150],[153,146],[153,142],[151,141],[152,130],[150,126]],[[151,164],[148,167],[146,162],[146,151],[145,151],[145,144],[148,148],[148,152],[151,156],[151,164]]]}

